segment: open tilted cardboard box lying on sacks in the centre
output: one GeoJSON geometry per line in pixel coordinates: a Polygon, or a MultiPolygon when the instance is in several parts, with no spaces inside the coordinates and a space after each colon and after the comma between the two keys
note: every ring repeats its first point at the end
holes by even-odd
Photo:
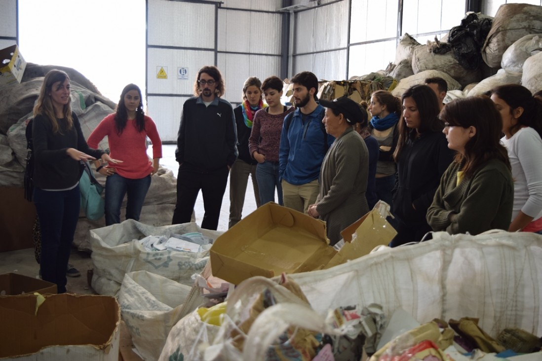
{"type": "Polygon", "coordinates": [[[337,253],[329,242],[325,222],[269,202],[215,240],[212,274],[240,284],[255,275],[316,270],[337,253]]]}

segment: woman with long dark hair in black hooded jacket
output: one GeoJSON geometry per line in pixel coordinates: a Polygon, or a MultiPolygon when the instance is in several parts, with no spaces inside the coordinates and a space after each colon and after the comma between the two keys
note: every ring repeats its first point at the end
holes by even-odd
{"type": "Polygon", "coordinates": [[[393,214],[397,235],[390,246],[418,242],[431,231],[425,215],[433,202],[444,171],[454,157],[438,119],[438,100],[434,91],[416,85],[402,96],[403,121],[393,157],[397,162],[397,182],[393,189],[393,214]]]}

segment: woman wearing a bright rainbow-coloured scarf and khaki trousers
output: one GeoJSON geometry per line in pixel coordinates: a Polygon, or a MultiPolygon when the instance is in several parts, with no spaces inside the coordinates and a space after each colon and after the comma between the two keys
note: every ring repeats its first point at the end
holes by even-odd
{"type": "Polygon", "coordinates": [[[250,156],[248,139],[252,130],[254,114],[262,108],[262,82],[257,77],[251,76],[243,85],[243,102],[234,109],[239,155],[230,170],[230,219],[228,228],[235,226],[241,220],[249,175],[252,178],[256,206],[260,207],[260,196],[256,181],[256,165],[258,162],[250,156]]]}

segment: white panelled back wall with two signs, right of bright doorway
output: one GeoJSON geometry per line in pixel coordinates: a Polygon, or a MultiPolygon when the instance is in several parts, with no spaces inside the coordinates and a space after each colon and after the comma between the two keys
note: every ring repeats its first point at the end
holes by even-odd
{"type": "Polygon", "coordinates": [[[203,65],[221,70],[223,97],[232,103],[241,101],[249,76],[280,73],[281,3],[147,1],[147,110],[163,141],[177,139],[183,103],[203,65]]]}

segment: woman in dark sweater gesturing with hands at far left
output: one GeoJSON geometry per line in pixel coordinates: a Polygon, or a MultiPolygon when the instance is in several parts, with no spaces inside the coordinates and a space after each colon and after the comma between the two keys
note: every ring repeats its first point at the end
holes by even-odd
{"type": "Polygon", "coordinates": [[[101,150],[89,148],[78,117],[70,107],[66,73],[45,76],[34,107],[34,204],[41,226],[41,275],[66,292],[66,269],[79,219],[81,161],[117,163],[101,150]]]}

